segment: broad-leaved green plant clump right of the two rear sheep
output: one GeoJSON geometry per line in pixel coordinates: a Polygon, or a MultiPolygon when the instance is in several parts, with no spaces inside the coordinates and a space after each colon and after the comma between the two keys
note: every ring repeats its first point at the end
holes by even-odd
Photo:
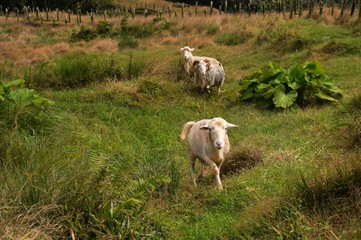
{"type": "Polygon", "coordinates": [[[338,103],[342,91],[316,61],[295,64],[287,70],[271,62],[242,78],[241,101],[255,101],[261,107],[289,108],[338,103]]]}

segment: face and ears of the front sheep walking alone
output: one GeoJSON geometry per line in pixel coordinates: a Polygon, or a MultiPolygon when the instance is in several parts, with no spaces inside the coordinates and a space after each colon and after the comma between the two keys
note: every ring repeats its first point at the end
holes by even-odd
{"type": "Polygon", "coordinates": [[[208,124],[200,127],[201,130],[208,130],[213,141],[213,146],[221,150],[228,141],[227,128],[237,127],[221,118],[214,118],[208,124]]]}

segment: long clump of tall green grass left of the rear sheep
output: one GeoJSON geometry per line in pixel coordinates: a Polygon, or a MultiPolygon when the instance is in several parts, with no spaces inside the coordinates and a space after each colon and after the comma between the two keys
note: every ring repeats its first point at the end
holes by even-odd
{"type": "Polygon", "coordinates": [[[106,79],[133,80],[142,76],[148,67],[144,59],[125,56],[127,62],[116,56],[97,54],[69,54],[54,62],[40,62],[27,68],[24,78],[26,84],[33,88],[76,88],[106,79]]]}

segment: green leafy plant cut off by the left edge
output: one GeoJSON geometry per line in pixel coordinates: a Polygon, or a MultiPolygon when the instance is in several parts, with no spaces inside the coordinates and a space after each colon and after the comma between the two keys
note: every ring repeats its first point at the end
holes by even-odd
{"type": "Polygon", "coordinates": [[[22,79],[0,82],[0,123],[3,126],[33,130],[38,127],[38,120],[45,110],[52,105],[52,100],[24,87],[22,79]]]}

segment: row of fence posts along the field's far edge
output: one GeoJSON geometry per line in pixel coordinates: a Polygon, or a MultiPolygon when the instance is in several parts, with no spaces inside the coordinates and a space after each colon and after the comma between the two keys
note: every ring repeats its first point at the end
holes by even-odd
{"type": "Polygon", "coordinates": [[[268,13],[289,14],[289,18],[294,16],[312,16],[325,14],[324,9],[328,8],[327,14],[334,16],[337,14],[340,17],[354,16],[358,12],[358,21],[361,20],[361,0],[245,0],[244,2],[234,2],[232,5],[225,0],[218,8],[213,6],[213,1],[210,1],[209,6],[199,6],[198,1],[194,5],[184,3],[172,3],[164,5],[156,4],[129,4],[118,5],[116,8],[109,10],[90,10],[82,11],[76,10],[51,10],[39,9],[38,7],[24,6],[21,9],[10,9],[0,5],[0,17],[5,19],[16,18],[25,19],[28,22],[53,22],[57,24],[64,22],[65,24],[76,22],[82,23],[84,17],[88,17],[91,23],[94,23],[95,17],[102,17],[104,20],[114,17],[174,17],[184,18],[192,15],[215,16],[222,14],[247,14],[249,16],[255,14],[266,15],[268,13]]]}

